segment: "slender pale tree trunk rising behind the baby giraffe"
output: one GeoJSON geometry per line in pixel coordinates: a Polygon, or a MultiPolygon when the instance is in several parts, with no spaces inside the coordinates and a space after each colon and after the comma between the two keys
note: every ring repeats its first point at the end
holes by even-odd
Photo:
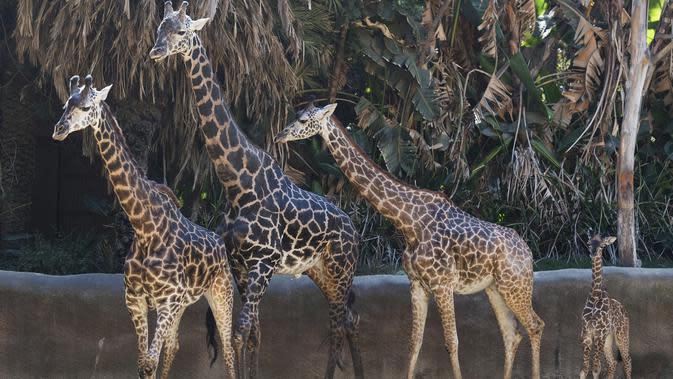
{"type": "Polygon", "coordinates": [[[639,260],[636,254],[636,220],[633,196],[633,165],[636,138],[640,126],[640,106],[643,99],[645,78],[650,66],[647,47],[647,1],[631,3],[630,66],[626,81],[626,105],[622,120],[617,167],[617,236],[619,240],[619,264],[635,267],[639,260]]]}

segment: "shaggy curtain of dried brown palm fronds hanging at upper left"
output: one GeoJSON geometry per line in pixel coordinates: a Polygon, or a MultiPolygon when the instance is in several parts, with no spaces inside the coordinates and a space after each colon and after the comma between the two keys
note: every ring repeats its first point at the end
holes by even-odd
{"type": "MultiPolygon", "coordinates": [[[[165,121],[176,127],[161,128],[157,141],[169,147],[167,159],[184,162],[195,175],[210,171],[204,148],[194,137],[198,118],[182,63],[148,59],[162,1],[17,3],[17,55],[39,68],[38,82],[48,85],[50,78],[65,100],[64,79],[91,73],[101,82],[114,83],[112,96],[117,100],[134,98],[169,107],[172,119],[165,121]]],[[[302,41],[287,4],[287,0],[194,0],[191,7],[193,17],[211,17],[201,36],[213,67],[224,77],[225,98],[251,121],[271,125],[268,135],[285,125],[286,104],[298,87],[292,66],[302,41]]]]}

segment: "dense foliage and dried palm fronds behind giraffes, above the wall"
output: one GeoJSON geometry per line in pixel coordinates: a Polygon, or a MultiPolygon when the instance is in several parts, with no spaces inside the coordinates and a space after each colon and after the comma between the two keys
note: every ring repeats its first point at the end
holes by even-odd
{"type": "MultiPolygon", "coordinates": [[[[37,67],[55,103],[66,96],[64,78],[90,68],[115,84],[120,104],[169,110],[155,123],[175,127],[138,144],[153,152],[150,173],[177,190],[185,213],[214,229],[226,204],[195,133],[185,75],[175,72],[182,65],[146,58],[160,3],[18,0],[16,54],[37,67]]],[[[397,177],[515,228],[545,262],[581,262],[590,230],[616,233],[630,1],[248,3],[192,1],[191,9],[213,18],[204,40],[246,132],[297,182],[351,214],[365,270],[399,267],[401,236],[355,196],[318,139],[289,150],[271,143],[311,100],[337,101],[358,143],[397,177]]],[[[653,70],[635,209],[638,250],[650,262],[673,253],[672,16],[671,2],[649,1],[653,70]]]]}

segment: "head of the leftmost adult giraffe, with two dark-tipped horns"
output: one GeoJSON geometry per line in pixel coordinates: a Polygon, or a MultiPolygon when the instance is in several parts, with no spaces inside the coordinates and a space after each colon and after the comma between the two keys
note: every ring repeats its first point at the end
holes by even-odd
{"type": "Polygon", "coordinates": [[[65,102],[63,115],[54,126],[52,138],[63,141],[70,133],[88,126],[98,128],[100,125],[102,106],[112,85],[97,90],[91,85],[91,75],[84,78],[84,86],[79,86],[79,76],[70,78],[70,97],[65,102]]]}

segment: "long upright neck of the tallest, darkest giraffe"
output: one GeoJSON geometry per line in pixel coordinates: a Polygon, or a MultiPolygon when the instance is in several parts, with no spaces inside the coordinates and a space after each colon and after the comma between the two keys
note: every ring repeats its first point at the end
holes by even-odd
{"type": "Polygon", "coordinates": [[[193,36],[185,57],[199,112],[200,128],[217,176],[230,195],[252,188],[264,153],[253,145],[231,117],[201,39],[193,36]]]}

